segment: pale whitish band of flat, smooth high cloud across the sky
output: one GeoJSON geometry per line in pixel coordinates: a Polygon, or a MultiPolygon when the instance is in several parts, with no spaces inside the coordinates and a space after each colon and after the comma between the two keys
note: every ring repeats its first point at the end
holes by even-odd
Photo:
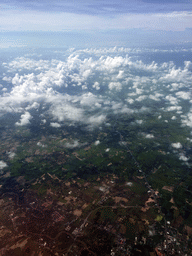
{"type": "Polygon", "coordinates": [[[92,15],[90,12],[42,11],[4,9],[0,11],[2,31],[63,31],[63,30],[110,30],[150,29],[184,31],[191,28],[192,13],[177,11],[169,13],[114,13],[92,15]],[[87,14],[89,13],[89,14],[87,14]],[[10,18],[11,17],[11,18],[10,18]],[[177,24],[177,26],[175,26],[177,24]]]}

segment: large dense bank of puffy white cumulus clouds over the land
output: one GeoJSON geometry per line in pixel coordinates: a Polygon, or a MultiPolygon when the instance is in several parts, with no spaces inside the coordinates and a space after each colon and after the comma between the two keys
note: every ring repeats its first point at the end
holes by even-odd
{"type": "MultiPolygon", "coordinates": [[[[24,125],[31,121],[28,111],[41,109],[43,102],[46,119],[50,117],[52,123],[78,122],[93,128],[106,123],[109,113],[144,113],[159,104],[159,111],[176,112],[178,122],[178,114],[182,114],[182,124],[192,127],[192,111],[186,113],[183,102],[191,101],[191,62],[181,68],[173,62],[146,64],[128,55],[141,51],[123,47],[72,49],[62,60],[42,56],[13,59],[3,64],[7,73],[2,80],[8,90],[2,92],[0,110],[21,113],[16,124],[24,125]]],[[[176,120],[175,115],[166,118],[176,120]]],[[[46,119],[42,117],[41,124],[46,119]]]]}

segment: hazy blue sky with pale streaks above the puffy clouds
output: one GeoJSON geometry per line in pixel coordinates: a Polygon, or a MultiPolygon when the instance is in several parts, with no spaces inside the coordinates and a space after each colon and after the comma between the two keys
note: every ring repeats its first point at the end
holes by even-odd
{"type": "Polygon", "coordinates": [[[192,42],[190,0],[1,0],[0,46],[151,46],[192,42]]]}

